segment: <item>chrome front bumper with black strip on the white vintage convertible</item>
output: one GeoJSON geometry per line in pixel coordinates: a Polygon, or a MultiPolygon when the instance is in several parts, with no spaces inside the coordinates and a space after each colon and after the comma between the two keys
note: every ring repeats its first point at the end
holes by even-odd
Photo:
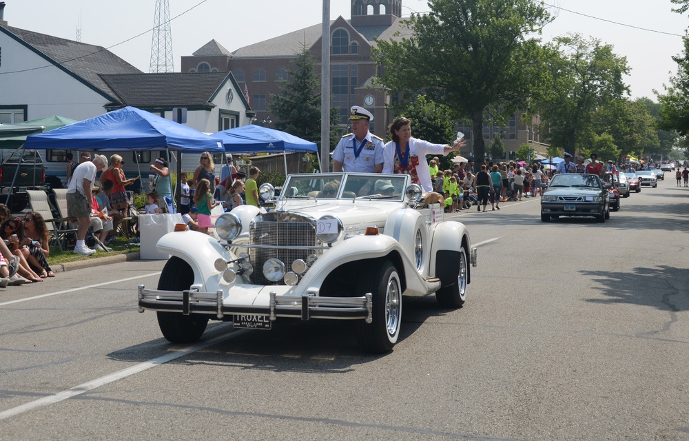
{"type": "Polygon", "coordinates": [[[223,291],[159,291],[138,285],[138,311],[180,312],[212,314],[222,320],[225,315],[250,314],[267,316],[271,321],[278,317],[329,318],[334,320],[373,320],[371,293],[362,297],[278,296],[270,293],[269,305],[226,305],[223,291]]]}

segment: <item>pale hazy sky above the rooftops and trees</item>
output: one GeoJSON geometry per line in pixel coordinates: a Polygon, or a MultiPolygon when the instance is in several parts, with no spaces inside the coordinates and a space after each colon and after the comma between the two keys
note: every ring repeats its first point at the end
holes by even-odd
{"type": "MultiPolygon", "coordinates": [[[[110,48],[136,68],[149,71],[150,29],[156,0],[3,1],[6,2],[5,20],[10,26],[76,39],[81,17],[81,41],[110,48]]],[[[670,57],[682,51],[681,36],[689,26],[689,17],[672,12],[670,0],[547,0],[545,3],[555,6],[551,13],[557,19],[544,29],[544,41],[578,32],[612,44],[616,54],[627,57],[631,75],[626,83],[633,98],[648,96],[655,100],[652,90],[662,91],[669,72],[676,71],[670,57]]],[[[403,0],[402,4],[402,13],[406,15],[429,10],[424,0],[403,0]]],[[[342,15],[349,19],[349,5],[349,0],[331,0],[331,18],[342,15]]],[[[211,39],[234,51],[322,21],[322,2],[313,0],[169,0],[169,11],[171,18],[180,16],[172,21],[176,71],[180,68],[180,57],[191,55],[211,39]]]]}

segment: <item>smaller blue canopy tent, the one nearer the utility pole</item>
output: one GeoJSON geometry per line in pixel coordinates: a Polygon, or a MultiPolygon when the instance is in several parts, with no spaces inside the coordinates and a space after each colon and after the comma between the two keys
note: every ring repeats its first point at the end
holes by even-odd
{"type": "Polygon", "coordinates": [[[249,124],[235,127],[215,132],[211,136],[223,141],[227,153],[282,153],[285,160],[285,174],[287,174],[287,152],[313,152],[318,156],[316,143],[260,125],[249,124]]]}

